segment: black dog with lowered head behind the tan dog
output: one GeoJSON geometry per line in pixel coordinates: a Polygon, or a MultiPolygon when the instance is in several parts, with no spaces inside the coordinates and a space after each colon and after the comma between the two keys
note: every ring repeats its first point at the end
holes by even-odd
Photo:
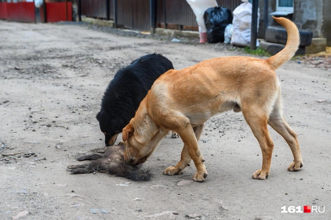
{"type": "MultiPolygon", "coordinates": [[[[140,102],[154,81],[164,72],[173,69],[173,63],[161,54],[141,56],[120,69],[109,83],[96,115],[105,135],[105,145],[113,145],[119,133],[134,117],[140,102]]],[[[178,137],[176,133],[172,137],[178,137]]]]}

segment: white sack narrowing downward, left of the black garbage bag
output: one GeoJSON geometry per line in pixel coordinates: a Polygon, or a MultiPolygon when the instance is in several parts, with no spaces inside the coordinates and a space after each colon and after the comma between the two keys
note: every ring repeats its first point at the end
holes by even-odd
{"type": "Polygon", "coordinates": [[[190,5],[194,15],[196,16],[196,21],[199,25],[199,32],[206,32],[203,14],[209,8],[218,7],[216,0],[186,0],[186,2],[190,5]]]}

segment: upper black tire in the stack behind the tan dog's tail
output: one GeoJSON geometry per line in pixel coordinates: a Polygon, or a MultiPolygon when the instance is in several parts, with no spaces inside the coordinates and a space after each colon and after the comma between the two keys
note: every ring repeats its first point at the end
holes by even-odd
{"type": "MultiPolygon", "coordinates": [[[[309,46],[313,38],[313,33],[309,30],[299,30],[300,46],[309,46]]],[[[287,32],[284,27],[268,26],[265,31],[265,40],[271,43],[286,44],[287,32]]]]}

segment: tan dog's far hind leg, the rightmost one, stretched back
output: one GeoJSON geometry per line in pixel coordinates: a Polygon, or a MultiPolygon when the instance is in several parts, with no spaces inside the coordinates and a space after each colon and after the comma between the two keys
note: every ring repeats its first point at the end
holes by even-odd
{"type": "Polygon", "coordinates": [[[284,137],[291,148],[294,162],[290,164],[288,170],[298,171],[303,166],[298,137],[292,128],[286,123],[282,114],[281,105],[279,103],[280,102],[275,105],[272,113],[270,114],[268,124],[284,137]]]}

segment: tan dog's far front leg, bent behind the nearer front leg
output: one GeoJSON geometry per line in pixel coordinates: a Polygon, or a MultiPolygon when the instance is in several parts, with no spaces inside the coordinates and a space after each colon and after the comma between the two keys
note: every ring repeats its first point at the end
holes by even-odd
{"type": "MultiPolygon", "coordinates": [[[[195,137],[197,141],[200,139],[200,135],[203,129],[203,125],[201,124],[199,126],[196,126],[193,128],[195,137]]],[[[166,175],[178,175],[180,174],[187,166],[190,166],[191,164],[191,157],[189,155],[189,152],[184,144],[182,154],[181,154],[181,160],[176,164],[175,167],[168,167],[166,170],[163,171],[163,174],[166,175]]]]}

